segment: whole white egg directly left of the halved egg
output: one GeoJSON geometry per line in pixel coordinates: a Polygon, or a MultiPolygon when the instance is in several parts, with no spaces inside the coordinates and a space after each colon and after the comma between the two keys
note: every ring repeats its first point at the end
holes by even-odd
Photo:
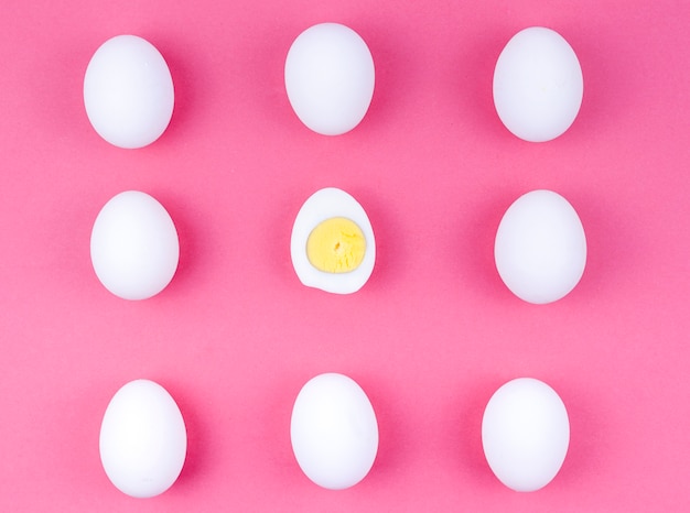
{"type": "Polygon", "coordinates": [[[128,190],[98,214],[90,252],[94,271],[108,291],[123,299],[145,299],[175,274],[180,242],[165,208],[145,193],[128,190]]]}

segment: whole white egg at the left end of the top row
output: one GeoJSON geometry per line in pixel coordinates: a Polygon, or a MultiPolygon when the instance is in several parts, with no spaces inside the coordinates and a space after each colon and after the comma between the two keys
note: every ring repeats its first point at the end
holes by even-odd
{"type": "Polygon", "coordinates": [[[84,106],[91,125],[120,148],[142,148],[160,138],[172,118],[174,96],[165,59],[136,35],[106,41],[84,76],[84,106]]]}

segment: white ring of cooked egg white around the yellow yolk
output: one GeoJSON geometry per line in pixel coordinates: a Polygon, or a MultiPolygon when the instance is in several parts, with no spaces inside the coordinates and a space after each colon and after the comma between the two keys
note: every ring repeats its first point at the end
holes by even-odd
{"type": "Polygon", "coordinates": [[[310,196],[300,208],[292,226],[290,239],[292,266],[302,284],[334,294],[357,292],[369,280],[376,262],[376,241],[366,211],[349,194],[326,187],[310,196]],[[331,218],[346,218],[362,230],[366,251],[362,263],[347,273],[330,273],[316,269],[309,260],[306,242],[319,223],[331,218]]]}

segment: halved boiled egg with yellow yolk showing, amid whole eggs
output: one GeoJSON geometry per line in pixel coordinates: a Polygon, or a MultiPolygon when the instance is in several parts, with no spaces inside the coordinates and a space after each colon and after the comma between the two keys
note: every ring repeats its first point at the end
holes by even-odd
{"type": "MultiPolygon", "coordinates": [[[[317,249],[322,256],[328,253],[333,258],[349,259],[346,253],[346,233],[337,231],[331,239],[324,239],[328,245],[317,249]],[[342,254],[345,252],[345,254],[342,254]]],[[[366,211],[349,194],[335,187],[326,187],[310,196],[298,212],[292,227],[290,240],[290,255],[292,265],[300,281],[309,286],[335,294],[351,294],[357,292],[369,280],[376,262],[376,241],[374,230],[366,211]],[[348,268],[327,270],[319,262],[310,260],[308,251],[310,239],[319,227],[326,226],[335,219],[349,220],[359,229],[362,247],[359,247],[360,261],[345,262],[348,268]]]]}

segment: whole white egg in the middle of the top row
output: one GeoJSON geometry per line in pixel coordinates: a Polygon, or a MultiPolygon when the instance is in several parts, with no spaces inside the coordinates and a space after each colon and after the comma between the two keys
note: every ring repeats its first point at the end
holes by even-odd
{"type": "Polygon", "coordinates": [[[371,53],[345,25],[313,25],[288,52],[285,90],[308,128],[324,135],[348,132],[363,120],[374,96],[371,53]]]}

